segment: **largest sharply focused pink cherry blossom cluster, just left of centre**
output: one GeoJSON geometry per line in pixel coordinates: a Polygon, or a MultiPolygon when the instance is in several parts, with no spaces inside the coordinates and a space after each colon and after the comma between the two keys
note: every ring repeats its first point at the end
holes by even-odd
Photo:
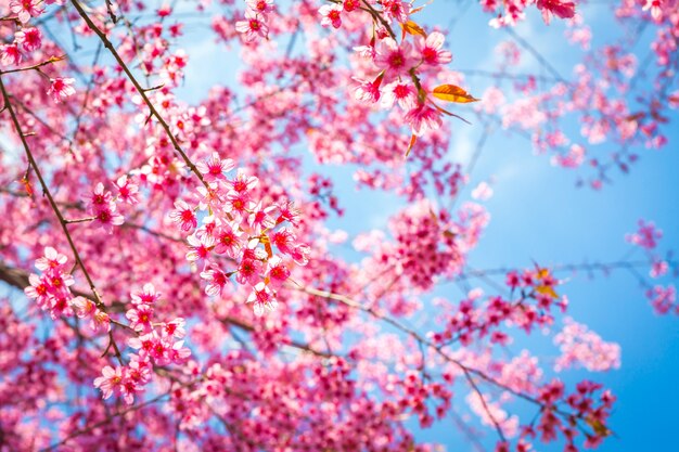
{"type": "Polygon", "coordinates": [[[170,219],[190,233],[187,259],[201,266],[205,293],[221,295],[234,276],[249,287],[247,302],[253,304],[256,315],[262,315],[276,309],[277,290],[293,267],[307,263],[310,249],[293,232],[299,216],[293,204],[257,199],[258,178],[239,169],[228,179],[226,173],[233,167],[233,160],[222,159],[218,153],[198,163],[207,188],[197,189],[193,206],[178,199],[170,219]]]}

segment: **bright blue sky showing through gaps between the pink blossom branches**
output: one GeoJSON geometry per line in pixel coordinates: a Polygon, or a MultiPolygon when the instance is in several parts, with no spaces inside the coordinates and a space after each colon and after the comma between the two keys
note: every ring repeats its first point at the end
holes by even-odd
{"type": "MultiPolygon", "coordinates": [[[[491,70],[492,50],[508,35],[487,26],[489,15],[483,14],[475,3],[435,0],[423,14],[430,23],[441,28],[452,28],[448,40],[454,60],[452,68],[491,70]],[[469,7],[469,8],[467,8],[469,7]],[[453,21],[454,18],[454,21],[453,21]]],[[[183,8],[182,8],[183,9],[183,8]]],[[[611,25],[611,9],[594,4],[579,10],[592,25],[594,46],[606,42],[619,31],[611,25]]],[[[208,15],[209,17],[209,15],[208,15]]],[[[185,38],[180,47],[187,49],[190,64],[184,88],[180,94],[190,103],[202,99],[214,85],[235,86],[238,52],[228,52],[214,46],[214,35],[206,33],[206,18],[188,18],[185,38]],[[218,63],[216,63],[218,62],[218,63]],[[206,68],[209,68],[207,70],[206,68]]],[[[546,27],[537,11],[531,8],[528,20],[516,33],[533,42],[564,75],[571,74],[573,63],[581,55],[566,44],[564,27],[559,21],[546,27]]],[[[648,39],[654,31],[646,31],[648,39]]],[[[648,53],[639,47],[639,60],[648,53]]],[[[517,72],[536,67],[535,61],[524,57],[525,66],[517,72]]],[[[488,79],[470,77],[470,90],[481,95],[488,79]]],[[[668,130],[669,145],[662,152],[639,150],[640,162],[628,176],[616,173],[613,184],[601,192],[576,189],[577,171],[552,167],[549,157],[535,156],[529,143],[496,132],[487,145],[472,175],[470,189],[484,180],[494,180],[495,195],[485,203],[491,222],[478,247],[470,256],[475,269],[497,267],[531,267],[534,261],[542,266],[579,263],[589,261],[615,261],[629,250],[625,234],[637,228],[640,218],[659,225],[665,236],[663,249],[679,246],[679,122],[672,116],[674,130],[668,130]]],[[[481,126],[453,124],[450,158],[467,163],[481,132],[481,126]]],[[[607,153],[612,145],[600,146],[607,153]]],[[[387,194],[374,194],[354,189],[350,171],[324,168],[332,175],[338,188],[342,205],[347,207],[345,217],[333,221],[333,227],[357,233],[369,228],[384,228],[388,216],[399,204],[387,194]],[[381,209],[375,209],[381,206],[381,209]]],[[[462,194],[469,198],[470,189],[462,194]]],[[[642,258],[637,251],[632,255],[642,258]]],[[[641,270],[646,273],[646,270],[641,270]]],[[[643,288],[625,271],[610,276],[598,273],[593,280],[585,274],[566,275],[571,281],[561,290],[571,299],[569,314],[586,323],[605,340],[618,343],[623,348],[623,366],[604,374],[581,371],[562,373],[567,382],[582,377],[602,382],[618,397],[612,419],[617,437],[607,440],[600,449],[604,452],[677,451],[679,443],[675,429],[679,416],[679,319],[654,314],[643,296],[643,288]]],[[[664,280],[667,282],[667,280],[664,280]]],[[[451,299],[459,298],[460,290],[448,285],[441,290],[451,299]]],[[[551,339],[540,334],[529,340],[518,341],[510,349],[518,353],[528,347],[540,358],[558,356],[551,339]]],[[[462,396],[459,392],[458,396],[462,396]]],[[[459,403],[463,403],[461,400],[459,403]]],[[[518,408],[518,413],[530,416],[533,412],[518,408]]],[[[475,419],[473,425],[478,426],[475,419]],[[475,424],[474,424],[475,423],[475,424]]],[[[489,430],[485,430],[489,431],[489,430]]],[[[489,431],[491,434],[491,431],[489,431]]],[[[452,422],[446,419],[432,429],[419,434],[421,439],[444,443],[450,451],[471,451],[472,445],[457,431],[452,422]]],[[[491,435],[484,439],[494,444],[491,435]]],[[[538,447],[540,451],[559,448],[538,447]]]]}

